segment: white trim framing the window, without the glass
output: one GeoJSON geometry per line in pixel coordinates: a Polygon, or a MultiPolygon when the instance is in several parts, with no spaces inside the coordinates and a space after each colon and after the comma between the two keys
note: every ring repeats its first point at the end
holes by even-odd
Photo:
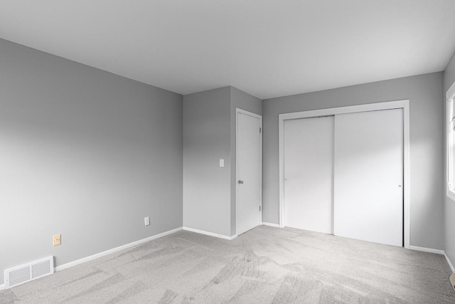
{"type": "MultiPolygon", "coordinates": [[[[444,129],[446,130],[446,196],[455,201],[455,192],[454,190],[451,190],[451,187],[449,186],[450,182],[455,183],[455,180],[451,180],[454,178],[454,172],[451,172],[451,169],[449,169],[454,166],[453,162],[455,161],[455,159],[450,158],[450,147],[451,145],[454,145],[454,138],[451,137],[451,127],[449,125],[451,120],[451,109],[454,108],[453,103],[455,103],[455,82],[452,83],[449,90],[446,92],[446,120],[444,123],[444,129]]],[[[454,168],[452,168],[452,170],[454,170],[454,168]]]]}

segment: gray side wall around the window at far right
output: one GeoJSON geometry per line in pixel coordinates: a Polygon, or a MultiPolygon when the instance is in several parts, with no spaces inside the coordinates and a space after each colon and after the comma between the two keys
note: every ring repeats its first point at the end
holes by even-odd
{"type": "MultiPolygon", "coordinates": [[[[449,64],[446,66],[444,71],[444,90],[443,90],[443,108],[444,108],[444,118],[446,117],[446,92],[449,90],[452,83],[455,82],[455,55],[452,56],[449,64]]],[[[444,122],[442,126],[444,130],[442,135],[444,136],[444,185],[446,187],[446,120],[441,120],[444,122]]],[[[446,196],[446,188],[444,188],[444,244],[446,255],[449,257],[452,265],[455,266],[455,237],[452,234],[455,231],[455,201],[449,199],[446,196]]]]}

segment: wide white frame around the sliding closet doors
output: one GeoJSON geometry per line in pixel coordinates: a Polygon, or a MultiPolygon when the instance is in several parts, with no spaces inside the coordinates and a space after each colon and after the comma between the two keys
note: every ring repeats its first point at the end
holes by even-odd
{"type": "Polygon", "coordinates": [[[410,100],[395,100],[382,103],[367,103],[363,105],[349,105],[339,108],[279,114],[278,140],[280,227],[284,227],[284,120],[392,109],[403,109],[403,236],[405,248],[410,248],[410,100]]]}

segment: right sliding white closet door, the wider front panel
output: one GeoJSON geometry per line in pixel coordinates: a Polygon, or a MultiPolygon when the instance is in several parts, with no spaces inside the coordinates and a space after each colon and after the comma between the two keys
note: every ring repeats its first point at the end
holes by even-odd
{"type": "Polygon", "coordinates": [[[402,246],[402,109],[335,117],[334,234],[402,246]]]}

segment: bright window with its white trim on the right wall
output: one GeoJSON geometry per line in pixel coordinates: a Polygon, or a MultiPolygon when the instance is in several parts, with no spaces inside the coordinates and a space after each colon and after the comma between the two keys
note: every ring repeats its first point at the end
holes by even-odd
{"type": "Polygon", "coordinates": [[[451,128],[452,110],[455,103],[455,82],[446,92],[446,195],[455,201],[455,131],[451,128]],[[452,185],[452,189],[451,189],[452,185]]]}

